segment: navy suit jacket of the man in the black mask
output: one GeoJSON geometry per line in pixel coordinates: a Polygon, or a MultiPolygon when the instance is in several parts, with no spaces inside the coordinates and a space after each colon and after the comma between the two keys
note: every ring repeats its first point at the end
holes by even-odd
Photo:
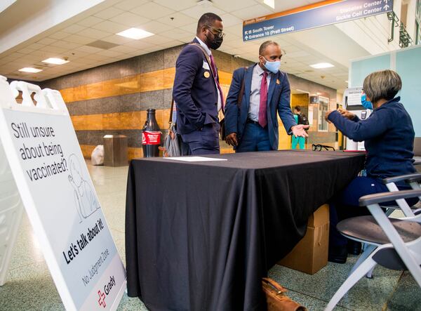
{"type": "MultiPolygon", "coordinates": [[[[199,44],[196,39],[194,43],[199,44]]],[[[175,64],[173,98],[177,106],[177,131],[192,133],[218,122],[218,91],[210,64],[197,46],[182,48],[175,64]],[[207,67],[208,69],[206,69],[207,67]]]]}

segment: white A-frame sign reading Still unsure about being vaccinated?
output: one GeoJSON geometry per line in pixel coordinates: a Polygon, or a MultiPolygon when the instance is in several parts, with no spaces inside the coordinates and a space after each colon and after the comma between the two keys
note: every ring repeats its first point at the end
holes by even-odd
{"type": "Polygon", "coordinates": [[[126,271],[60,93],[0,76],[0,138],[66,310],[116,310],[126,271]]]}

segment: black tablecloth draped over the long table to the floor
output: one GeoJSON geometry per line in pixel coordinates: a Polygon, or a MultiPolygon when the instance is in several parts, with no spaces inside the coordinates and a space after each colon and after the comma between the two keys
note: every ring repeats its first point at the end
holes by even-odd
{"type": "Polygon", "coordinates": [[[227,161],[131,161],[128,296],[151,310],[262,310],[261,277],[364,161],[304,150],[212,157],[227,161]]]}

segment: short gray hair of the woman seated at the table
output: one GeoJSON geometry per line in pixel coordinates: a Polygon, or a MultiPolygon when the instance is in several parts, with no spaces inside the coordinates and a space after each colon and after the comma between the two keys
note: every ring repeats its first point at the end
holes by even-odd
{"type": "Polygon", "coordinates": [[[392,100],[402,88],[399,74],[393,70],[381,70],[368,74],[364,79],[363,90],[371,102],[392,100]]]}

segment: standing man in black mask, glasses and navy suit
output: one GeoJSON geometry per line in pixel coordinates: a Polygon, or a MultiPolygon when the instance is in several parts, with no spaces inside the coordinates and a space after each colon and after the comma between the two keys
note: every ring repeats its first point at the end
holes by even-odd
{"type": "Polygon", "coordinates": [[[218,111],[224,98],[210,48],[220,47],[225,35],[222,30],[218,15],[203,14],[192,41],[196,45],[187,44],[175,65],[173,98],[177,107],[177,131],[188,145],[189,154],[220,152],[218,111]]]}

